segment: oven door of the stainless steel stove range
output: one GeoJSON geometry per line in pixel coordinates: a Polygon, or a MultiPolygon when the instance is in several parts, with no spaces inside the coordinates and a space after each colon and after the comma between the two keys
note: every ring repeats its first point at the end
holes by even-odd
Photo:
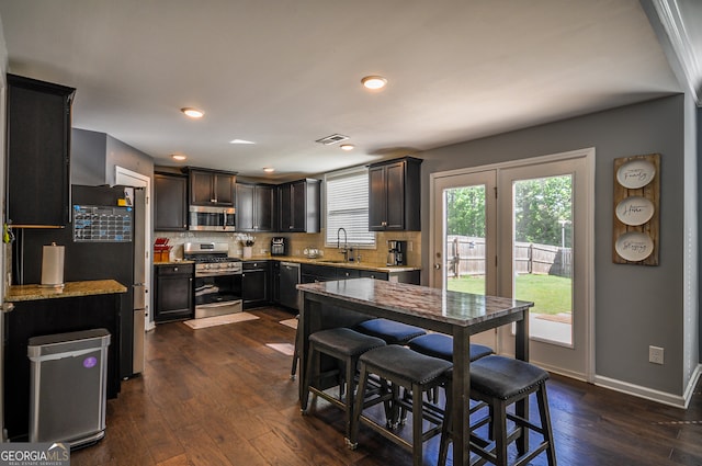
{"type": "Polygon", "coordinates": [[[240,312],[241,274],[196,273],[195,318],[240,312]]]}

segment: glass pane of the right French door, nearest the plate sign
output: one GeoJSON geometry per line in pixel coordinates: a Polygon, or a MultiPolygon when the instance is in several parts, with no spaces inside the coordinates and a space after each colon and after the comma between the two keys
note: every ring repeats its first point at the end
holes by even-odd
{"type": "Polygon", "coordinates": [[[534,303],[530,336],[573,344],[573,175],[513,185],[513,296],[534,303]]]}

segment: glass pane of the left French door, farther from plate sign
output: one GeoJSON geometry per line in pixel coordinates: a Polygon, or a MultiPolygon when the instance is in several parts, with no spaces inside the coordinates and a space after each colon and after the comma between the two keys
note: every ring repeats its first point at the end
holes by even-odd
{"type": "Polygon", "coordinates": [[[444,190],[446,289],[485,294],[485,192],[484,184],[444,190]]]}

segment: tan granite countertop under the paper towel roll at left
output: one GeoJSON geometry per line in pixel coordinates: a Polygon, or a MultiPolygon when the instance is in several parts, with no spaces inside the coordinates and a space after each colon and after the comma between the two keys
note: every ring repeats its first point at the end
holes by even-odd
{"type": "Polygon", "coordinates": [[[8,303],[16,303],[75,296],[110,295],[114,293],[126,293],[126,286],[114,280],[68,282],[63,288],[41,285],[12,285],[8,288],[4,300],[8,303]]]}

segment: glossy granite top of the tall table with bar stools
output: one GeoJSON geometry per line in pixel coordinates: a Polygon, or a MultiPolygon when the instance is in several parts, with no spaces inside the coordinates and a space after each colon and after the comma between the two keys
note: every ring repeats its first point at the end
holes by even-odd
{"type": "Polygon", "coordinates": [[[372,279],[299,284],[297,289],[464,327],[522,311],[534,305],[507,297],[450,292],[372,279]]]}

